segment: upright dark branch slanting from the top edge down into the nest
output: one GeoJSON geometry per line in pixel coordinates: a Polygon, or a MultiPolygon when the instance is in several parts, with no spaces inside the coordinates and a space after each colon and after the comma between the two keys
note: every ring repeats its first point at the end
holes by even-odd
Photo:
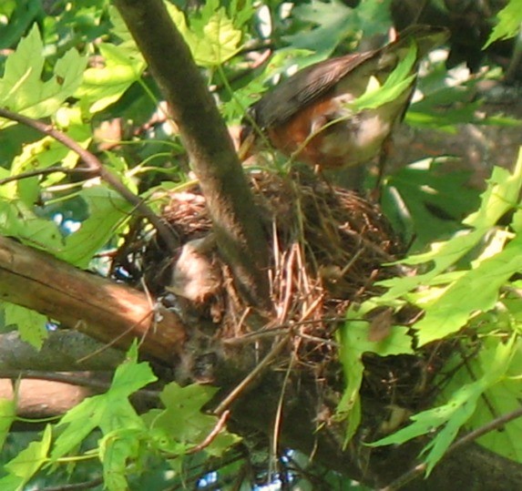
{"type": "Polygon", "coordinates": [[[162,0],[116,0],[179,126],[223,258],[251,302],[268,307],[267,250],[227,128],[162,0]]]}

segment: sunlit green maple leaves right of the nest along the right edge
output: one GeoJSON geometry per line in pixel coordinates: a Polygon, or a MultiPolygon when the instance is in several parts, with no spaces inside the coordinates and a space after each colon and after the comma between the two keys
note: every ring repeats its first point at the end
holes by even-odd
{"type": "MultiPolygon", "coordinates": [[[[420,435],[433,435],[423,450],[427,474],[459,432],[476,429],[517,408],[522,346],[517,279],[522,268],[521,190],[522,150],[513,173],[494,169],[479,209],[463,220],[462,230],[449,240],[433,243],[430,251],[402,261],[417,268],[415,275],[382,281],[383,295],[353,305],[347,312],[339,332],[348,381],[339,405],[339,417],[348,418],[346,442],[361,421],[364,353],[413,354],[429,343],[459,340],[461,351],[453,354],[447,368],[455,373],[435,407],[413,415],[409,425],[371,444],[403,444],[420,435]],[[509,213],[507,225],[499,226],[509,213]],[[370,321],[365,316],[384,307],[398,312],[405,305],[415,305],[423,312],[422,318],[411,328],[393,325],[382,341],[368,340],[370,321]]],[[[479,442],[520,461],[519,431],[519,423],[512,422],[479,442]]]]}

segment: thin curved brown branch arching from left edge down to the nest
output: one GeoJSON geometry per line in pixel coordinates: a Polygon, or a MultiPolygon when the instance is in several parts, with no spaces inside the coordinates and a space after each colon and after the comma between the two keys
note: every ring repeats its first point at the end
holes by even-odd
{"type": "Polygon", "coordinates": [[[0,117],[11,119],[17,123],[26,125],[29,128],[36,129],[36,131],[39,131],[48,137],[55,138],[56,141],[59,141],[62,145],[70,148],[80,159],[82,159],[84,164],[87,166],[87,171],[92,172],[94,175],[97,175],[100,179],[107,182],[109,186],[115,189],[124,199],[127,199],[127,201],[139,211],[139,213],[154,225],[156,230],[158,230],[159,235],[161,235],[163,240],[165,240],[169,246],[170,251],[175,251],[177,249],[178,241],[176,240],[174,230],[169,229],[166,223],[161,220],[154,211],[148,208],[143,199],[139,198],[128,189],[115,174],[109,172],[92,152],[82,148],[73,138],[68,137],[62,131],[59,131],[43,121],[27,118],[26,116],[5,109],[5,107],[0,107],[0,117]]]}

